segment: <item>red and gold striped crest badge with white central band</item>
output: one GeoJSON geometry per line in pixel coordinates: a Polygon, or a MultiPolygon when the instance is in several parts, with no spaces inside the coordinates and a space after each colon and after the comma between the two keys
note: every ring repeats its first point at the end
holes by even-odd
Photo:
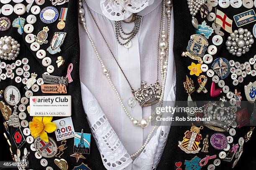
{"type": "Polygon", "coordinates": [[[187,130],[184,133],[184,137],[182,142],[179,141],[179,148],[183,150],[185,153],[198,153],[201,148],[199,148],[200,140],[202,139],[202,135],[200,134],[200,128],[192,125],[190,130],[187,130]]]}

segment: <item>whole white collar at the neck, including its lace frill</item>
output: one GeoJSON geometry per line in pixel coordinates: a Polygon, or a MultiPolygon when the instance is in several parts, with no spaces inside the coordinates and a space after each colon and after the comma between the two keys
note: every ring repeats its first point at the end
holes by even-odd
{"type": "Polygon", "coordinates": [[[95,12],[110,20],[125,20],[132,13],[144,16],[153,11],[161,0],[86,0],[88,6],[95,12]]]}

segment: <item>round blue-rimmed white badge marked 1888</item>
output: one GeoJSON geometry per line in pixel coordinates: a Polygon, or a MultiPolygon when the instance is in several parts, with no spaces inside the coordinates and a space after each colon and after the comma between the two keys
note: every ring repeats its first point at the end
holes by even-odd
{"type": "Polygon", "coordinates": [[[59,12],[55,7],[45,7],[40,13],[40,19],[46,24],[53,23],[58,17],[59,12]]]}

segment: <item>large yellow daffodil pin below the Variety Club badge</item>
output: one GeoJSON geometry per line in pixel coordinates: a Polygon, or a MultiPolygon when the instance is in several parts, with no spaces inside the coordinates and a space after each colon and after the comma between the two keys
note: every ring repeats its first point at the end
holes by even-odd
{"type": "Polygon", "coordinates": [[[45,142],[49,142],[47,133],[52,133],[56,130],[56,125],[51,122],[52,116],[34,116],[33,120],[29,122],[29,129],[33,138],[40,136],[45,142]]]}

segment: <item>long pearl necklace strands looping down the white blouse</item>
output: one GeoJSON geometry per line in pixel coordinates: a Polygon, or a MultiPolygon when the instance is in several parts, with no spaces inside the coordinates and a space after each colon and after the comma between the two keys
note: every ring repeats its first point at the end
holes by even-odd
{"type": "MultiPolygon", "coordinates": [[[[85,2],[85,4],[86,4],[86,2],[85,2]]],[[[168,66],[168,52],[169,52],[169,39],[170,39],[170,37],[169,37],[169,32],[170,32],[170,20],[171,20],[171,9],[170,9],[170,7],[172,6],[172,3],[171,3],[171,1],[170,0],[167,0],[167,1],[163,1],[163,10],[162,10],[162,15],[164,15],[164,18],[163,18],[163,20],[162,20],[162,34],[161,34],[161,42],[160,42],[160,48],[161,48],[161,52],[160,52],[160,69],[161,69],[161,78],[162,78],[162,81],[161,81],[161,83],[162,83],[162,86],[161,86],[161,88],[162,88],[162,93],[161,93],[161,97],[160,97],[160,99],[159,99],[159,103],[157,104],[157,106],[159,107],[159,106],[161,106],[162,105],[162,102],[163,102],[163,98],[164,98],[164,87],[165,87],[165,82],[166,82],[166,74],[167,74],[167,66],[168,66]],[[166,7],[167,7],[167,9],[165,9],[165,5],[166,5],[166,7]],[[167,35],[167,42],[166,42],[166,34],[165,34],[165,12],[166,12],[166,14],[167,14],[167,18],[168,18],[168,35],[167,35]],[[166,45],[164,45],[164,46],[161,46],[161,44],[164,44],[164,43],[166,43],[167,44],[167,47],[166,47],[166,45]],[[164,57],[165,57],[165,61],[163,61],[164,60],[164,57]]],[[[87,9],[89,10],[89,12],[90,12],[90,9],[89,9],[89,7],[87,6],[87,9]]],[[[111,78],[110,78],[110,73],[109,73],[109,71],[108,71],[108,68],[107,67],[105,67],[105,65],[104,65],[104,63],[103,63],[103,61],[102,61],[102,59],[100,58],[100,55],[99,55],[99,53],[97,52],[97,49],[96,49],[96,47],[95,47],[95,44],[94,44],[94,42],[93,42],[93,40],[92,40],[92,37],[90,36],[90,33],[88,32],[88,30],[87,30],[87,27],[86,27],[86,20],[85,20],[85,18],[84,18],[84,14],[85,14],[85,10],[84,10],[84,8],[83,8],[83,3],[82,3],[82,0],[79,0],[79,17],[80,17],[80,23],[82,23],[82,26],[83,26],[83,28],[84,28],[84,30],[85,30],[85,32],[87,33],[87,35],[88,35],[88,38],[89,38],[89,40],[90,40],[90,42],[91,42],[91,44],[92,44],[92,47],[93,47],[93,49],[94,49],[94,51],[95,51],[95,54],[97,55],[97,58],[98,58],[98,60],[100,61],[100,64],[101,64],[101,66],[102,66],[102,71],[103,71],[103,73],[104,73],[104,75],[106,75],[106,77],[107,77],[107,79],[108,79],[108,81],[109,81],[109,83],[110,83],[110,85],[111,85],[111,87],[113,88],[113,90],[115,91],[115,93],[116,93],[116,95],[117,95],[117,97],[118,97],[118,100],[119,100],[119,102],[120,102],[120,105],[121,105],[121,107],[123,108],[123,110],[125,111],[125,113],[127,114],[127,116],[131,119],[131,121],[133,122],[133,125],[136,125],[136,126],[141,126],[142,128],[145,128],[145,127],[147,127],[148,126],[148,124],[149,124],[149,122],[151,122],[151,120],[153,120],[154,118],[154,116],[156,115],[156,113],[154,112],[154,113],[152,113],[152,115],[151,116],[149,116],[149,119],[148,120],[146,120],[146,119],[142,119],[141,121],[138,121],[138,120],[135,120],[131,115],[130,115],[130,113],[128,112],[128,110],[125,108],[125,106],[124,106],[124,104],[123,104],[123,102],[122,102],[122,100],[121,100],[121,97],[120,97],[120,95],[119,95],[119,92],[116,90],[116,88],[115,88],[115,85],[113,85],[113,82],[112,82],[112,80],[111,80],[111,78]]],[[[91,14],[92,15],[92,14],[91,14]]],[[[97,23],[95,22],[95,24],[97,25],[97,23]]],[[[158,115],[158,116],[161,116],[161,115],[158,115]]],[[[138,155],[139,155],[139,153],[141,153],[141,151],[146,147],[146,145],[148,144],[148,141],[150,140],[150,138],[151,138],[151,135],[154,133],[154,131],[156,130],[156,125],[154,125],[154,127],[152,128],[152,130],[151,130],[151,132],[148,134],[148,136],[147,136],[147,139],[146,139],[146,141],[145,141],[145,143],[141,146],[141,148],[139,149],[139,150],[137,150],[136,151],[136,153],[134,153],[133,155],[131,155],[131,158],[133,159],[133,158],[136,158],[138,155]]]]}

